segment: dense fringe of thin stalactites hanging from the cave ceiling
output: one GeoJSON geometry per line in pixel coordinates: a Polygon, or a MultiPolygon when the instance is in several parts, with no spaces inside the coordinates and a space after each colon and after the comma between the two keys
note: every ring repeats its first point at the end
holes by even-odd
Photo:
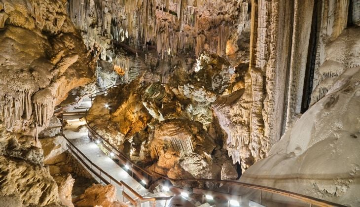
{"type": "Polygon", "coordinates": [[[241,18],[237,21],[240,34],[249,21],[247,2],[234,0],[234,6],[229,6],[227,14],[204,16],[199,11],[208,7],[221,10],[228,6],[228,3],[220,2],[217,5],[203,0],[70,0],[69,16],[77,28],[85,32],[84,39],[88,47],[96,42],[106,50],[110,48],[107,38],[117,41],[140,39],[133,42],[136,47],[145,48],[147,42],[156,43],[157,52],[161,58],[165,58],[194,47],[197,48],[198,56],[207,49],[200,45],[208,43],[212,53],[222,55],[229,28],[221,25],[230,21],[231,15],[237,15],[238,8],[241,7],[241,18]],[[199,17],[201,15],[202,17],[199,17]],[[211,28],[219,28],[218,39],[217,36],[208,34],[205,35],[206,38],[197,38],[199,32],[208,33],[207,28],[199,31],[199,27],[202,27],[199,26],[200,18],[204,18],[206,22],[210,20],[211,28]]]}

